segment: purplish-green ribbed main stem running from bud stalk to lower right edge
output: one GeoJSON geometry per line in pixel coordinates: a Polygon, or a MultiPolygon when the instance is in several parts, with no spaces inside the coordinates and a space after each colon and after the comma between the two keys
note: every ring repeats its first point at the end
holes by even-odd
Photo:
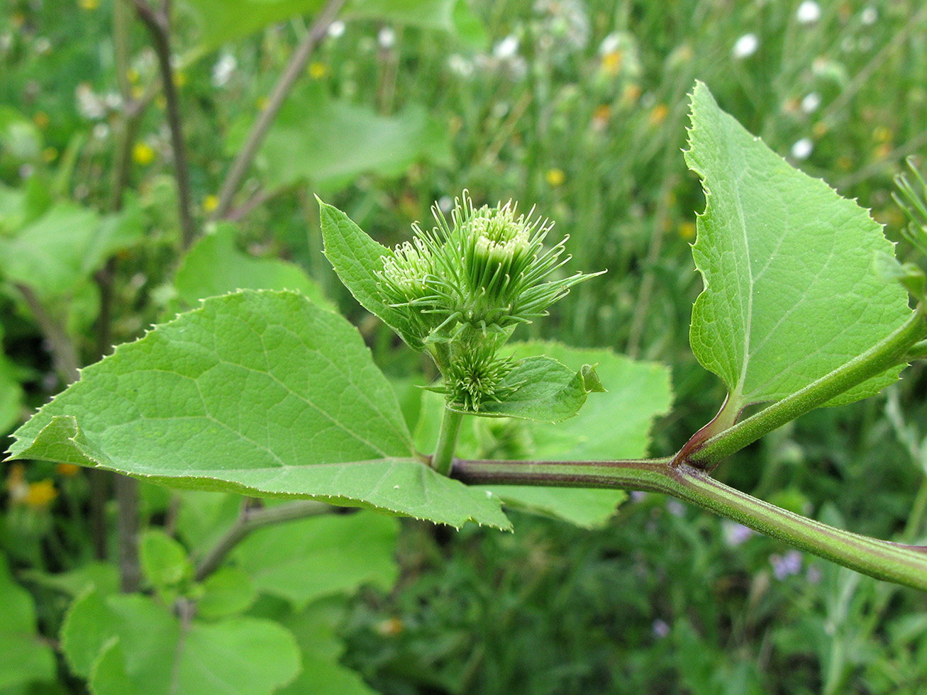
{"type": "Polygon", "coordinates": [[[876,579],[927,591],[927,548],[843,531],[780,509],[671,459],[647,461],[454,461],[468,485],[607,487],[661,492],[876,579]]]}

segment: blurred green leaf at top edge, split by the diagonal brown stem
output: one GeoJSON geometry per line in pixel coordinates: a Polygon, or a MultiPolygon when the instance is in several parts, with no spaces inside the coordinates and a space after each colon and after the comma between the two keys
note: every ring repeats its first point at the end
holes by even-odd
{"type": "MultiPolygon", "coordinates": [[[[197,54],[248,36],[277,22],[317,12],[323,0],[186,0],[199,24],[197,54]]],[[[352,0],[342,11],[345,19],[379,19],[423,29],[459,32],[479,44],[483,33],[465,0],[352,0]]]]}

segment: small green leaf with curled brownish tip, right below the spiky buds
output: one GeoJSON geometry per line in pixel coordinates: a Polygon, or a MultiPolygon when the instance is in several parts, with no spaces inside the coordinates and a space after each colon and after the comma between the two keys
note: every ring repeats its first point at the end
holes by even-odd
{"type": "Polygon", "coordinates": [[[520,360],[500,386],[501,401],[485,401],[476,414],[559,423],[576,415],[590,393],[604,390],[594,367],[585,364],[573,372],[548,357],[520,360]],[[507,391],[507,386],[517,388],[507,391]]]}

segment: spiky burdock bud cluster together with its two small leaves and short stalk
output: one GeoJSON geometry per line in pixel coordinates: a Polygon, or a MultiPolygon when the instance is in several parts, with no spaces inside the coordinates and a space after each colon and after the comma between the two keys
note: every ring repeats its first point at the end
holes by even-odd
{"type": "Polygon", "coordinates": [[[450,221],[437,205],[432,213],[435,226],[414,223],[412,240],[395,248],[357,229],[351,248],[333,237],[325,253],[362,305],[438,366],[441,383],[431,388],[447,408],[433,461],[448,470],[464,414],[555,422],[602,389],[589,366],[573,373],[556,360],[504,352],[515,327],[545,316],[570,287],[599,273],[558,272],[570,259],[568,236],[545,246],[553,223],[534,208],[519,213],[511,200],[476,208],[464,191],[450,221]]]}

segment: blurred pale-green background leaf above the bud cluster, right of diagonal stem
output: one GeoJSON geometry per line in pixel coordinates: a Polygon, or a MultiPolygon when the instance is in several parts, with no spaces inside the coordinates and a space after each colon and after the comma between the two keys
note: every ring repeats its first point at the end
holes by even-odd
{"type": "Polygon", "coordinates": [[[287,99],[261,145],[268,181],[332,188],[360,174],[396,176],[416,161],[451,165],[447,123],[412,105],[391,116],[335,101],[308,84],[287,99]]]}

